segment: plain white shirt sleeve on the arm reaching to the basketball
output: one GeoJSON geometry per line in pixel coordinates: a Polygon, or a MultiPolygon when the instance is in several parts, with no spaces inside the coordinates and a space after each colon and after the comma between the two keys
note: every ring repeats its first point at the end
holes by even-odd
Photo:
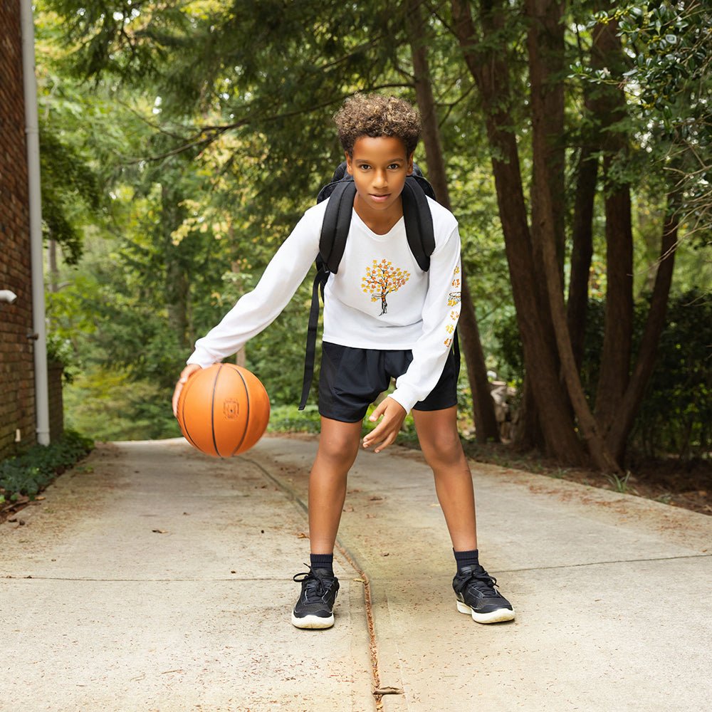
{"type": "Polygon", "coordinates": [[[243,295],[216,327],[195,342],[189,364],[207,368],[223,360],[278,317],[318,254],[321,223],[315,213],[320,212],[315,208],[305,212],[271,259],[257,286],[243,295]]]}

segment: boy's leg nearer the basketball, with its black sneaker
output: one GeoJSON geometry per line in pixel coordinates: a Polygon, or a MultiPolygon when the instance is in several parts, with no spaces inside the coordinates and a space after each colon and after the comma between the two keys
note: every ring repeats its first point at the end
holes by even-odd
{"type": "MultiPolygon", "coordinates": [[[[346,498],[346,481],[361,439],[361,422],[344,423],[322,417],[316,459],[309,476],[309,539],[312,555],[333,555],[346,498]]],[[[333,570],[310,566],[295,577],[301,582],[292,612],[298,628],[330,628],[339,582],[333,570]]]]}

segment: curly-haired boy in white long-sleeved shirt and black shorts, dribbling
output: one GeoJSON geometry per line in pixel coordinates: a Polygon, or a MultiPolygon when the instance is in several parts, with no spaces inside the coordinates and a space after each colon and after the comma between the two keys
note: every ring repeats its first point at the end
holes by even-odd
{"type": "MultiPolygon", "coordinates": [[[[329,628],[339,583],[333,551],[347,473],[367,408],[396,378],[370,419],[363,447],[394,442],[412,410],[420,445],[453,544],[457,608],[480,623],[511,620],[511,604],[479,565],[472,477],[456,424],[457,367],[451,352],[459,318],[460,239],[454,216],[428,199],[435,249],[419,268],[407,242],[401,192],[413,170],[420,120],[404,100],[377,94],[347,99],[335,115],[347,172],[356,187],[349,237],[325,287],[319,380],[321,434],[309,479],[310,571],[295,576],[298,628],[329,628]]],[[[308,209],[268,264],[256,288],[199,339],[173,395],[189,375],[239,350],[286,306],[319,251],[327,201],[308,209]]]]}

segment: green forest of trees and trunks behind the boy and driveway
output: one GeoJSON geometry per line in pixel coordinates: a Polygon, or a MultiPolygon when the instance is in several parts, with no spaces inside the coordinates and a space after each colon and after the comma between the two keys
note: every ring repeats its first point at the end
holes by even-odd
{"type": "MultiPolygon", "coordinates": [[[[177,436],[194,340],[342,159],[355,91],[417,104],[463,238],[461,424],[622,482],[709,466],[712,11],[553,0],[38,0],[49,347],[66,421],[177,436]]],[[[310,277],[243,357],[298,413],[310,277]]],[[[311,402],[315,402],[312,397],[311,402]]]]}

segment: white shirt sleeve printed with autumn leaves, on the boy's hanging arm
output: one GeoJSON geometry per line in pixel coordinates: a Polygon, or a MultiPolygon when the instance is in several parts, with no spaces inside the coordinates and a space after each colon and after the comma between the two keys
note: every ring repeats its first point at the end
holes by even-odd
{"type": "Polygon", "coordinates": [[[430,257],[423,331],[408,370],[396,380],[392,399],[406,412],[428,396],[440,379],[460,318],[460,234],[457,226],[430,257]]]}

